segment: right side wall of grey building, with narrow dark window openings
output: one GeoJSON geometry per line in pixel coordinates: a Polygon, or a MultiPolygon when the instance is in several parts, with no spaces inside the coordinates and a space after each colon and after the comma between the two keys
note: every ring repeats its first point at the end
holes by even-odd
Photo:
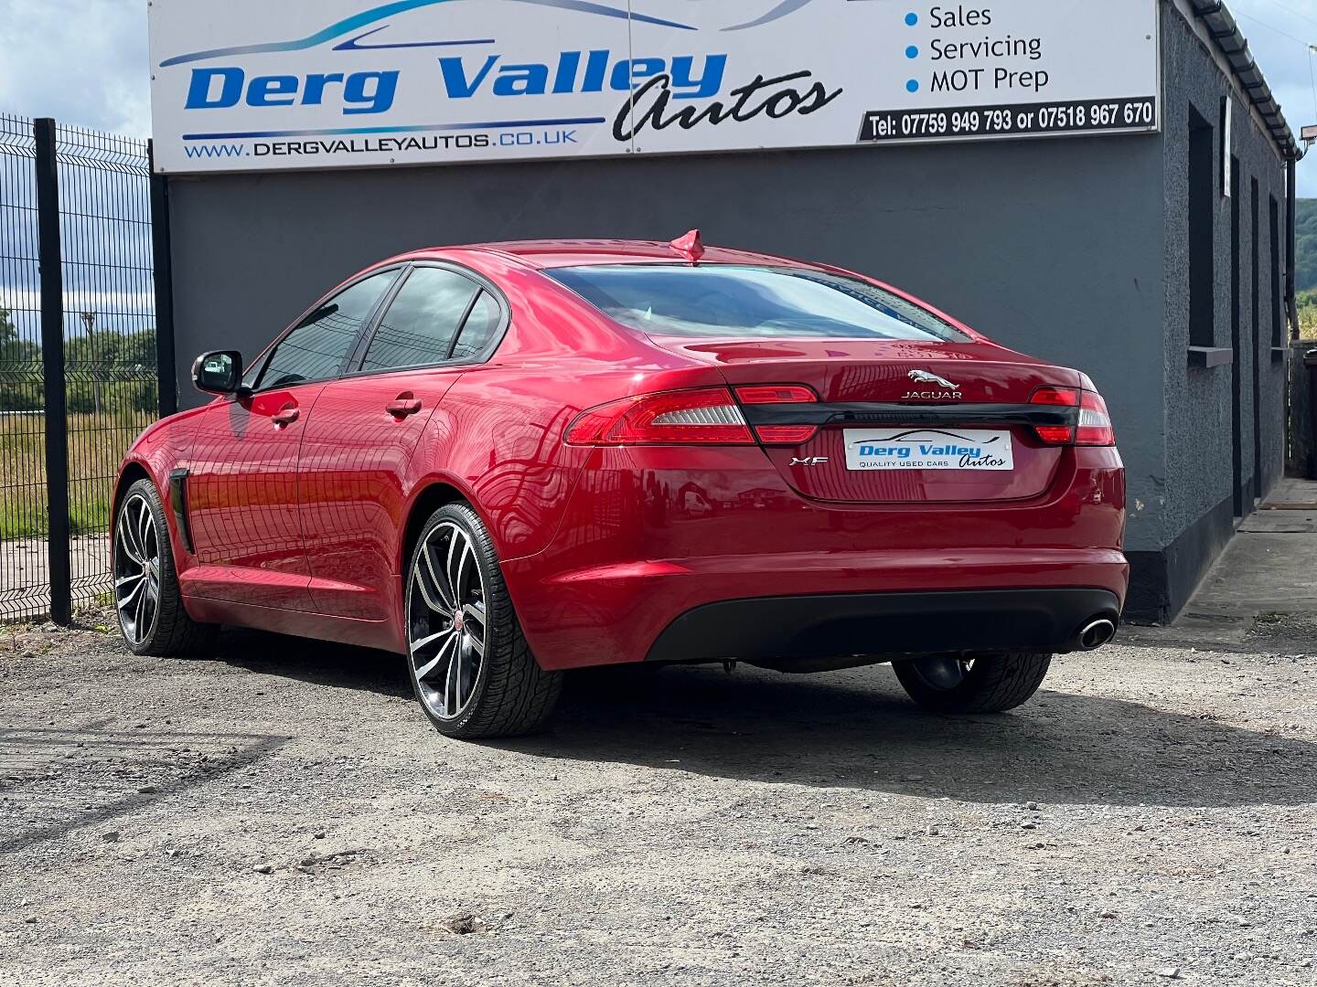
{"type": "MultiPolygon", "coordinates": [[[[1283,299],[1272,292],[1270,201],[1280,205],[1277,255],[1284,271],[1285,167],[1271,138],[1249,113],[1247,104],[1217,67],[1212,51],[1176,11],[1163,7],[1163,143],[1164,143],[1164,422],[1163,471],[1142,484],[1158,497],[1155,541],[1160,558],[1142,554],[1144,542],[1131,542],[1138,580],[1133,605],[1148,617],[1177,612],[1206,567],[1234,532],[1233,438],[1241,438],[1243,513],[1254,495],[1264,495],[1284,470],[1285,363],[1272,353],[1272,307],[1283,299]],[[1227,363],[1191,367],[1189,350],[1189,108],[1213,126],[1214,340],[1233,349],[1231,320],[1231,201],[1222,192],[1221,100],[1233,100],[1233,153],[1239,172],[1239,340],[1227,363]],[[1252,240],[1252,180],[1259,187],[1259,241],[1252,240]],[[1258,324],[1252,312],[1252,251],[1258,250],[1258,324]],[[1254,375],[1259,386],[1259,428],[1254,426],[1254,375]],[[1234,421],[1231,391],[1238,375],[1239,421],[1234,421]],[[1255,453],[1255,433],[1260,454],[1255,453]],[[1260,475],[1255,476],[1255,461],[1260,475]]],[[[1288,334],[1288,329],[1285,330],[1288,334]]],[[[1133,480],[1133,478],[1131,478],[1133,480]]],[[[1133,488],[1133,483],[1131,483],[1133,488]]],[[[1131,511],[1131,526],[1142,524],[1144,508],[1131,511]]]]}

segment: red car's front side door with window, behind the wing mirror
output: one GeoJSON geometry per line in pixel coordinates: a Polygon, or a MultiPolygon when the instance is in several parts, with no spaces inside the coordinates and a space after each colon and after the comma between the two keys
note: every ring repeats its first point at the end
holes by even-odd
{"type": "Polygon", "coordinates": [[[298,455],[316,401],[342,372],[398,274],[370,275],[319,304],[249,368],[249,390],[202,413],[186,475],[195,555],[186,574],[190,594],[313,609],[298,455]]]}

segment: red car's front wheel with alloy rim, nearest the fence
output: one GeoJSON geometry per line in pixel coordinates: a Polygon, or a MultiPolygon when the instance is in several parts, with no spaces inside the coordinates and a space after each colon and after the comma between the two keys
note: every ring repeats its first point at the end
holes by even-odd
{"type": "Polygon", "coordinates": [[[220,629],[183,608],[165,505],[140,479],[124,494],[113,528],[113,596],[119,630],[133,654],[198,658],[212,654],[220,629]]]}

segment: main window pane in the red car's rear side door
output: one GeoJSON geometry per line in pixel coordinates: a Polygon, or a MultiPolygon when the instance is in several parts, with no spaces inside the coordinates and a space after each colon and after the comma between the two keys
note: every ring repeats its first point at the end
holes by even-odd
{"type": "Polygon", "coordinates": [[[479,286],[444,267],[417,267],[379,320],[362,371],[443,363],[479,286]]]}

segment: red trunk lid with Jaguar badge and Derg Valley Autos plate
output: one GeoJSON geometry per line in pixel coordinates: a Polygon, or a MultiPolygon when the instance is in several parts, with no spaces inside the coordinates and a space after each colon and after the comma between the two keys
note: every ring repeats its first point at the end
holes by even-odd
{"type": "Polygon", "coordinates": [[[1019,422],[1042,386],[1081,375],[988,342],[691,340],[658,346],[719,367],[734,387],[807,384],[820,405],[747,407],[752,424],[819,421],[795,446],[765,446],[799,494],[832,501],[936,504],[1034,497],[1063,449],[1019,422]]]}

